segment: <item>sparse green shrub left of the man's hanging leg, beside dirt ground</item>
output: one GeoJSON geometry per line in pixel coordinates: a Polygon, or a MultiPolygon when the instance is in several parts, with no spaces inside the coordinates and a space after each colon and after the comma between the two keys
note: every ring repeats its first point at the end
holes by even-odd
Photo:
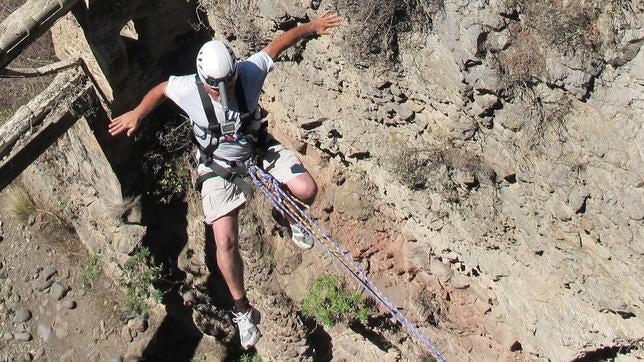
{"type": "Polygon", "coordinates": [[[147,318],[148,298],[160,302],[161,293],[154,283],[161,274],[161,267],[153,265],[148,248],[141,248],[130,256],[122,267],[119,284],[125,289],[125,306],[129,312],[147,318]]]}

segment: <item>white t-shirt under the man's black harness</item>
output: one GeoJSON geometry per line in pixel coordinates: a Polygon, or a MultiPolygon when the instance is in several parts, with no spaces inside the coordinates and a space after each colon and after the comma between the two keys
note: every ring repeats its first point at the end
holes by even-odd
{"type": "MultiPolygon", "coordinates": [[[[273,59],[263,51],[255,53],[248,59],[237,63],[238,77],[243,82],[244,95],[246,97],[246,104],[248,112],[253,114],[257,109],[257,102],[259,95],[264,85],[264,80],[268,73],[273,69],[273,59]]],[[[203,131],[208,128],[208,118],[206,112],[201,104],[197,84],[195,83],[195,74],[184,76],[171,76],[168,80],[165,95],[170,98],[176,105],[178,105],[190,118],[192,122],[192,131],[194,132],[197,141],[203,147],[207,147],[211,142],[211,137],[203,131]]],[[[228,94],[228,117],[235,120],[235,130],[241,126],[239,106],[236,99],[236,92],[232,91],[228,94]]],[[[215,108],[215,114],[218,120],[224,119],[224,110],[221,103],[212,100],[215,108]]],[[[256,125],[249,125],[249,129],[259,126],[260,121],[256,125]]],[[[237,137],[239,138],[239,137],[237,137]]],[[[253,152],[253,145],[245,138],[241,137],[237,141],[222,142],[223,136],[220,139],[219,146],[214,152],[216,161],[217,159],[224,159],[228,161],[245,160],[251,156],[253,152]]],[[[225,162],[217,162],[222,167],[228,167],[225,162]]],[[[210,171],[203,164],[199,165],[199,173],[210,171]]]]}

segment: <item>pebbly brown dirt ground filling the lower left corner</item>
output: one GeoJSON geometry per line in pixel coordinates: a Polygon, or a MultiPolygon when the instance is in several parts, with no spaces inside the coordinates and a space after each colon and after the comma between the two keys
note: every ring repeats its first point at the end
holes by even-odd
{"type": "Polygon", "coordinates": [[[0,360],[118,358],[124,345],[118,286],[104,273],[84,286],[90,256],[78,237],[47,218],[16,223],[9,192],[0,193],[0,360]]]}

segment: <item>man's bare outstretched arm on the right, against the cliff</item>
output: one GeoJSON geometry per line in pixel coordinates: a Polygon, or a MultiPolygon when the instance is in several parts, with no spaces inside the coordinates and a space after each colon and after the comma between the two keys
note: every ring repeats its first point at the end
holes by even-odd
{"type": "Polygon", "coordinates": [[[304,39],[311,35],[326,35],[331,34],[331,28],[340,25],[340,18],[329,11],[322,14],[320,17],[315,18],[311,22],[299,25],[277,38],[273,39],[263,49],[273,60],[286,49],[295,44],[298,40],[304,39]]]}

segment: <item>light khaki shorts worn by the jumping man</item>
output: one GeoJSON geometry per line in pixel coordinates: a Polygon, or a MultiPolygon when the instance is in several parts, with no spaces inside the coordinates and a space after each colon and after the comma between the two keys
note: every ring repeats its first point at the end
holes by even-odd
{"type": "MultiPolygon", "coordinates": [[[[300,160],[281,144],[268,148],[262,168],[281,183],[287,183],[307,171],[300,160]]],[[[212,224],[242,206],[254,185],[248,178],[229,182],[217,176],[207,179],[201,189],[204,222],[212,224]],[[245,184],[245,185],[244,185],[245,184]]]]}

